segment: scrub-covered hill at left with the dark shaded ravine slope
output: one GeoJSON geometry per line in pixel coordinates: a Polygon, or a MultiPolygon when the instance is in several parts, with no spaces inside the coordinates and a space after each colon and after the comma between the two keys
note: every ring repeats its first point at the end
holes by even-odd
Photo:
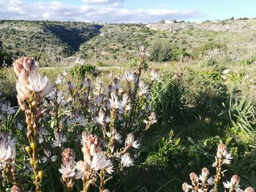
{"type": "Polygon", "coordinates": [[[4,50],[17,57],[42,59],[53,53],[66,57],[99,34],[100,28],[101,25],[80,22],[1,20],[0,42],[4,50]]]}

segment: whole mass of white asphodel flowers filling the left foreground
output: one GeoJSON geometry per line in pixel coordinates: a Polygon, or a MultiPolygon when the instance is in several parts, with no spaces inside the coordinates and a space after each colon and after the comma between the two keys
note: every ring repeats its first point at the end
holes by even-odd
{"type": "MultiPolygon", "coordinates": [[[[48,188],[42,185],[42,178],[52,180],[52,169],[59,170],[66,191],[81,183],[83,191],[89,191],[91,185],[108,191],[108,180],[136,165],[141,142],[138,135],[157,123],[149,100],[159,75],[152,70],[147,80],[141,80],[146,69],[145,49],[140,47],[134,72],[112,73],[110,81],[83,74],[74,77],[64,71],[52,84],[37,72],[34,58],[19,58],[13,63],[18,104],[26,119],[14,120],[18,129],[12,134],[19,136],[18,153],[28,156],[18,155],[16,160],[15,139],[0,134],[0,167],[11,191],[48,188]],[[23,128],[25,123],[27,129],[23,128]],[[21,138],[23,135],[28,142],[21,138]],[[15,161],[22,172],[15,172],[15,161]],[[23,177],[29,180],[29,186],[23,184],[23,177]]],[[[78,58],[76,64],[83,65],[83,61],[78,58]]],[[[4,100],[0,100],[0,111],[0,120],[15,113],[4,100]]],[[[57,188],[64,190],[61,185],[57,188]]]]}

